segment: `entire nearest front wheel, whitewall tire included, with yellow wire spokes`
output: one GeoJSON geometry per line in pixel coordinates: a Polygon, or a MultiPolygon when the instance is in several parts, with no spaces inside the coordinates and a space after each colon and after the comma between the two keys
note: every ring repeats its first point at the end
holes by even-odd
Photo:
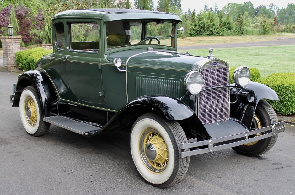
{"type": "Polygon", "coordinates": [[[187,139],[177,121],[154,114],[140,116],[131,130],[130,148],[142,178],[160,188],[181,181],[190,163],[190,157],[180,157],[181,143],[187,139]]]}

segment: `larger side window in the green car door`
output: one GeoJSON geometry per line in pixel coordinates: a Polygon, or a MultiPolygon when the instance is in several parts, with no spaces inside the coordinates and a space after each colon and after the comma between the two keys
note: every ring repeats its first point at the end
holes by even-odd
{"type": "Polygon", "coordinates": [[[70,23],[70,49],[97,52],[99,50],[99,30],[97,23],[70,23]]]}

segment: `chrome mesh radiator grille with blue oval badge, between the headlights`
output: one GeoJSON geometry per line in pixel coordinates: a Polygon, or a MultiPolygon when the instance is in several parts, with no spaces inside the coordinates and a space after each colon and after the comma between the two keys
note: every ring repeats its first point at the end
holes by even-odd
{"type": "MultiPolygon", "coordinates": [[[[203,89],[229,85],[229,68],[225,62],[217,61],[204,65],[201,74],[204,79],[203,89]]],[[[208,89],[199,94],[199,118],[203,124],[229,119],[230,88],[208,89]]]]}

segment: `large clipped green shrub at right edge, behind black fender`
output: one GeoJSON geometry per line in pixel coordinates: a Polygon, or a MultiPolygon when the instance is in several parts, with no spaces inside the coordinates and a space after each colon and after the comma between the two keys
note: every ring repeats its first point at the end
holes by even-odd
{"type": "Polygon", "coordinates": [[[295,114],[295,73],[272,73],[259,80],[260,83],[269,86],[279,96],[279,101],[268,102],[278,114],[295,114]]]}

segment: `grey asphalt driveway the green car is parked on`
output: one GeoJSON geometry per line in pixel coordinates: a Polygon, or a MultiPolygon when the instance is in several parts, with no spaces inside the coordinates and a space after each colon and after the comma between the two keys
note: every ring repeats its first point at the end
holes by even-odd
{"type": "Polygon", "coordinates": [[[279,135],[268,153],[250,158],[232,149],[190,158],[185,178],[158,189],[137,173],[129,134],[85,138],[51,126],[32,137],[9,95],[17,74],[0,72],[0,194],[293,194],[295,128],[279,135]]]}

